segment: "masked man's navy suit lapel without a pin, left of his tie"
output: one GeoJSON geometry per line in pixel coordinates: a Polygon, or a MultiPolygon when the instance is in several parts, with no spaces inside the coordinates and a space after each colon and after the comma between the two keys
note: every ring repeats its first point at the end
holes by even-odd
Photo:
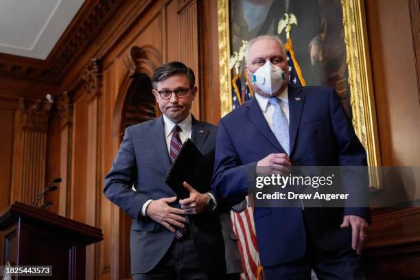
{"type": "Polygon", "coordinates": [[[272,132],[270,126],[268,126],[266,118],[261,112],[261,108],[259,107],[256,98],[253,97],[251,100],[246,102],[245,106],[248,108],[245,115],[248,117],[250,122],[255,126],[255,128],[257,128],[257,130],[259,130],[259,132],[261,132],[262,135],[264,135],[264,137],[266,137],[268,141],[270,141],[270,143],[272,143],[272,145],[275,146],[275,148],[277,148],[277,150],[284,153],[279,141],[277,141],[277,138],[272,132]]]}

